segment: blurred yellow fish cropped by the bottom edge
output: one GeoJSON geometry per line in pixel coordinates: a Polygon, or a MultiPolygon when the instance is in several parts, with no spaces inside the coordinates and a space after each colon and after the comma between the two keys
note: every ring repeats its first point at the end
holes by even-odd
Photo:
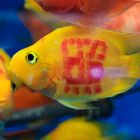
{"type": "Polygon", "coordinates": [[[111,123],[75,117],[60,123],[42,140],[133,140],[126,132],[116,133],[115,130],[117,127],[111,123]]]}

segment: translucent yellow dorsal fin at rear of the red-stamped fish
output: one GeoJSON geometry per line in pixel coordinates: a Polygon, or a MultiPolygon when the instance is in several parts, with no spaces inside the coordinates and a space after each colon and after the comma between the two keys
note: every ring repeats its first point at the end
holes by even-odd
{"type": "Polygon", "coordinates": [[[125,55],[140,52],[140,34],[97,29],[100,37],[115,44],[125,55]]]}

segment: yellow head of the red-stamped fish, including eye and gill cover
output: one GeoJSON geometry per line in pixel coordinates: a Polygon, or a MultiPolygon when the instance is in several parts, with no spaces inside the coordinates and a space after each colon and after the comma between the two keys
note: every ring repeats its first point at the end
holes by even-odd
{"type": "Polygon", "coordinates": [[[45,89],[49,83],[49,64],[36,44],[20,50],[11,59],[10,73],[33,90],[45,89]]]}

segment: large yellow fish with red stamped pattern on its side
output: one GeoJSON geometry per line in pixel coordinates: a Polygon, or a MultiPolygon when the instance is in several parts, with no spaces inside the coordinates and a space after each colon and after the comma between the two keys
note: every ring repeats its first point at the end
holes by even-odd
{"type": "Polygon", "coordinates": [[[88,102],[121,94],[136,83],[139,51],[140,35],[67,26],[17,52],[9,69],[33,90],[88,109],[88,102]]]}

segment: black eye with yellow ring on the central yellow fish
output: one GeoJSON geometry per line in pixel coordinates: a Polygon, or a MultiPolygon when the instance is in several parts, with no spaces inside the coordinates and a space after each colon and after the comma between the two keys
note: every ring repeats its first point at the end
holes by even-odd
{"type": "Polygon", "coordinates": [[[26,55],[26,60],[28,61],[28,63],[30,64],[35,64],[38,60],[38,56],[36,53],[34,52],[29,52],[27,55],[26,55]]]}

